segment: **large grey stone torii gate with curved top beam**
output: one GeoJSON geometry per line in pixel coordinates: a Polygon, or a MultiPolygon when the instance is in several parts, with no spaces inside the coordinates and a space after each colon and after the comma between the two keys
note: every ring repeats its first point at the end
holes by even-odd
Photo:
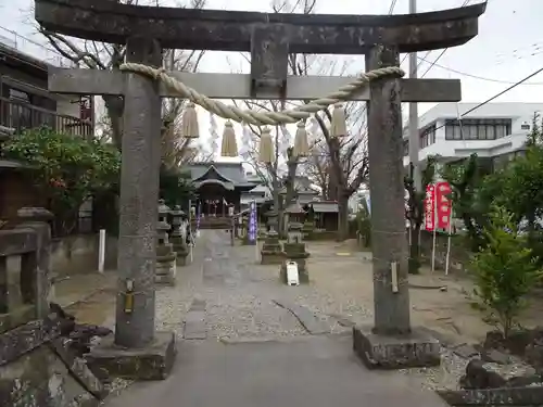
{"type": "MultiPolygon", "coordinates": [[[[302,15],[151,8],[108,0],[36,0],[45,28],[83,39],[126,44],[126,61],[162,65],[163,49],[251,52],[251,74],[169,75],[216,99],[314,100],[350,84],[345,77],[290,77],[289,53],[365,54],[366,69],[399,66],[405,52],[451,48],[478,33],[485,4],[409,15],[302,15]]],[[[123,165],[115,341],[92,358],[112,374],[164,378],[172,333],[154,330],[155,224],[161,98],[179,97],[146,75],[61,69],[49,90],[124,97],[123,165]],[[134,308],[125,297],[132,292],[134,308]],[[119,363],[118,357],[123,357],[119,363]],[[149,357],[151,356],[151,357],[149,357]],[[115,363],[112,363],[115,360],[115,363]],[[136,361],[134,361],[136,360],[136,361]],[[144,361],[147,360],[147,361],[144,361]],[[151,361],[149,361],[151,360],[151,361]],[[138,368],[139,366],[139,368],[138,368]]],[[[349,100],[368,101],[375,325],[354,330],[355,352],[370,366],[439,363],[438,343],[411,327],[405,233],[402,102],[455,102],[459,80],[381,78],[349,100]]]]}

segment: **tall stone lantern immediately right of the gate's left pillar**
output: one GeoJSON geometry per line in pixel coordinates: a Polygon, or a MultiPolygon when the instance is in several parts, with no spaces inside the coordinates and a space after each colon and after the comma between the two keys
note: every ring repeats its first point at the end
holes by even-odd
{"type": "Polygon", "coordinates": [[[156,224],[156,269],[155,282],[175,285],[176,276],[176,253],[172,243],[169,243],[168,231],[169,224],[167,222],[169,207],[166,206],[164,200],[159,201],[159,222],[156,224]]]}

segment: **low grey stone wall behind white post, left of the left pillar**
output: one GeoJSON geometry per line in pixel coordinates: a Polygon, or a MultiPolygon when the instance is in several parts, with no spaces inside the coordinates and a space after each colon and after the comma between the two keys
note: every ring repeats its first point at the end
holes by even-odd
{"type": "MultiPolygon", "coordinates": [[[[105,269],[117,265],[117,238],[105,237],[105,269]]],[[[51,245],[51,271],[55,276],[98,270],[99,234],[76,234],[54,239],[51,245]]]]}

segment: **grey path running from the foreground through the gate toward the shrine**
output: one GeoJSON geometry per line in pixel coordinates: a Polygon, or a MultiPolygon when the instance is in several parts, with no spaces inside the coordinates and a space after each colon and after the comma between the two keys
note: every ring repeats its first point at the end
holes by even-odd
{"type": "MultiPolygon", "coordinates": [[[[180,308],[201,313],[204,335],[184,340],[181,323],[159,321],[179,336],[172,376],[137,383],[108,407],[445,406],[409,376],[367,370],[352,352],[349,328],[336,330],[323,317],[319,327],[333,333],[307,332],[274,301],[308,297],[311,285],[279,284],[279,266],[255,266],[254,247],[231,247],[226,232],[203,231],[194,253],[194,265],[199,262],[200,272],[188,267],[190,276],[184,276],[185,268],[178,269],[177,290],[186,290],[185,277],[192,304],[180,308]]],[[[161,307],[167,305],[166,292],[157,292],[161,307]]],[[[162,313],[162,318],[167,315],[178,316],[162,313]]]]}

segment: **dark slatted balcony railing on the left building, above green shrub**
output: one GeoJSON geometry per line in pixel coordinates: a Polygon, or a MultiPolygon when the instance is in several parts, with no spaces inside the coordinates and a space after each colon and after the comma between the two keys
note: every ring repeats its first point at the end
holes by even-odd
{"type": "Polygon", "coordinates": [[[93,132],[90,120],[5,98],[0,98],[0,125],[15,131],[48,126],[59,132],[81,137],[89,137],[93,132]]]}

